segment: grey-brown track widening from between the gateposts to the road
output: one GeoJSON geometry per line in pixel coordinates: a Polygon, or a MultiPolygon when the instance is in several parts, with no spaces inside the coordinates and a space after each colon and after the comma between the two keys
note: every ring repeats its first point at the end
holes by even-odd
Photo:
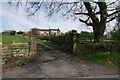
{"type": "Polygon", "coordinates": [[[3,73],[3,78],[117,77],[118,69],[73,59],[49,46],[38,45],[35,62],[3,73]]]}

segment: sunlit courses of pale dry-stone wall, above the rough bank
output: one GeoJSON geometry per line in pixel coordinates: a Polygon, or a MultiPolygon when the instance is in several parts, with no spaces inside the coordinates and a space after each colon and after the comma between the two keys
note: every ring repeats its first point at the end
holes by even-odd
{"type": "Polygon", "coordinates": [[[29,54],[28,44],[2,44],[2,55],[13,54],[14,56],[22,56],[29,54]]]}

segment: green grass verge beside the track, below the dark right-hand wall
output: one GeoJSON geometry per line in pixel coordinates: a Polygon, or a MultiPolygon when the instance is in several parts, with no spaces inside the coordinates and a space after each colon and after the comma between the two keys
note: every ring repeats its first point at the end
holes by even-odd
{"type": "Polygon", "coordinates": [[[76,53],[74,56],[81,60],[113,67],[118,67],[118,61],[120,59],[119,52],[97,52],[92,54],[76,53]]]}

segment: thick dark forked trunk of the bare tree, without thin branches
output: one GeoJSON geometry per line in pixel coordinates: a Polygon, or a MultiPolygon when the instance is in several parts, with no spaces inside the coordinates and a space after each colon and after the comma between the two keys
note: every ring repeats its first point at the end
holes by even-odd
{"type": "Polygon", "coordinates": [[[93,12],[91,4],[89,2],[84,2],[84,5],[88,11],[88,15],[92,20],[92,27],[94,32],[94,43],[102,43],[103,42],[103,34],[106,28],[106,20],[107,20],[107,5],[105,2],[97,3],[100,9],[100,20],[93,12]]]}

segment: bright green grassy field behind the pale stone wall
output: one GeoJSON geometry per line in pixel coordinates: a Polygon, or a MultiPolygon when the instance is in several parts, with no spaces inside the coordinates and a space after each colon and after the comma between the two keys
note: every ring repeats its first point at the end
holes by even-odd
{"type": "Polygon", "coordinates": [[[10,43],[28,43],[28,37],[21,36],[21,35],[9,35],[9,34],[2,34],[2,43],[3,44],[10,44],[10,43]]]}

